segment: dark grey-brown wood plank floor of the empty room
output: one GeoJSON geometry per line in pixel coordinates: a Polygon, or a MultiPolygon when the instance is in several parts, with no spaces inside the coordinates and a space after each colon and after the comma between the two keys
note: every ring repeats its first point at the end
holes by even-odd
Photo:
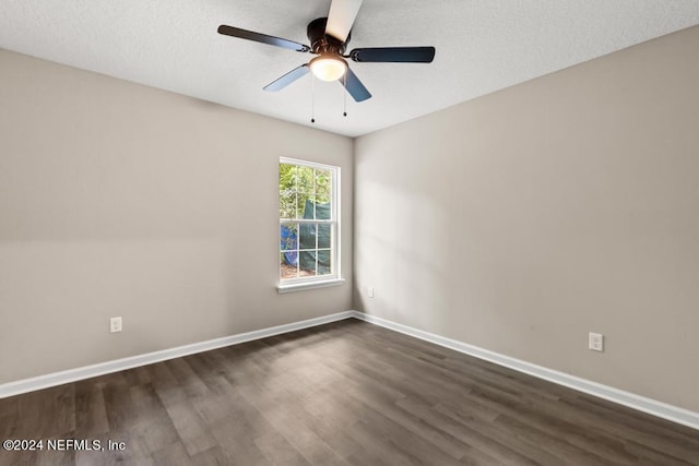
{"type": "Polygon", "coordinates": [[[699,465],[699,431],[356,320],[0,399],[0,464],[699,465]]]}

